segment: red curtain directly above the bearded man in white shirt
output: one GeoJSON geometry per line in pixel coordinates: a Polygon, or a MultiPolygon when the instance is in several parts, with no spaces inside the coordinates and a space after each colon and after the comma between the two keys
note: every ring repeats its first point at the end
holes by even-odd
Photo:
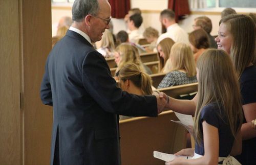
{"type": "Polygon", "coordinates": [[[188,0],[168,0],[168,9],[175,12],[176,22],[186,14],[190,14],[188,0]]]}

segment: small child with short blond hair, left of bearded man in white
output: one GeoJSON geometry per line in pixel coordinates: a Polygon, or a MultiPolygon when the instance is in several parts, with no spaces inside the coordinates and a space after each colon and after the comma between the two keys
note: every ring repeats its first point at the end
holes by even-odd
{"type": "Polygon", "coordinates": [[[146,52],[156,52],[157,39],[159,37],[158,31],[155,28],[148,27],[143,32],[143,37],[150,43],[150,45],[145,48],[146,52]]]}

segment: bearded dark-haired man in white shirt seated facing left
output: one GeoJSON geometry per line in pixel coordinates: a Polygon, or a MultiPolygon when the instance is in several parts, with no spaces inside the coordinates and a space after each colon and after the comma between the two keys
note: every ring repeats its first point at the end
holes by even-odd
{"type": "Polygon", "coordinates": [[[166,33],[163,33],[157,39],[157,44],[164,38],[172,38],[175,42],[184,42],[189,44],[188,34],[175,21],[175,13],[170,9],[165,9],[160,14],[160,21],[166,28],[166,33]]]}

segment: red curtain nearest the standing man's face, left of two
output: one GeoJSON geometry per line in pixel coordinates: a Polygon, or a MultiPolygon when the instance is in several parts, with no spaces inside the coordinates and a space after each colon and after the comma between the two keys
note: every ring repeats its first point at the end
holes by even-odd
{"type": "Polygon", "coordinates": [[[131,9],[130,0],[109,0],[111,5],[111,16],[113,18],[124,18],[131,9]]]}

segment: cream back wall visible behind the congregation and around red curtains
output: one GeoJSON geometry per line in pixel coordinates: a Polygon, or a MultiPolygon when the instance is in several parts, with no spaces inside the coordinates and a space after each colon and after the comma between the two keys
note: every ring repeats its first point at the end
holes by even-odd
{"type": "MultiPolygon", "coordinates": [[[[159,32],[161,32],[161,24],[159,22],[159,14],[163,9],[166,9],[168,5],[167,0],[131,0],[131,8],[140,8],[142,10],[143,17],[143,26],[145,28],[151,26],[156,28],[159,32]]],[[[192,25],[194,19],[198,16],[205,15],[209,17],[212,21],[212,35],[217,35],[219,28],[219,20],[221,18],[220,13],[223,9],[215,9],[211,11],[192,11],[191,15],[188,15],[186,19],[183,19],[179,22],[179,25],[186,31],[193,31],[192,25]]],[[[256,9],[236,9],[239,13],[249,13],[255,12],[256,9]]],[[[54,7],[52,8],[52,35],[56,34],[56,27],[58,20],[61,16],[71,16],[71,5],[66,7],[54,7]]],[[[120,30],[125,30],[125,25],[123,19],[115,19],[113,18],[114,24],[114,33],[116,34],[120,30]]]]}

